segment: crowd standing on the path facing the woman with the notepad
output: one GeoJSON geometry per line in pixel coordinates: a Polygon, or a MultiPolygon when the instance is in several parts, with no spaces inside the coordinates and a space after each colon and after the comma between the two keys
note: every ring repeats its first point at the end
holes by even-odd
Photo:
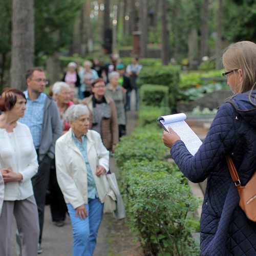
{"type": "Polygon", "coordinates": [[[125,134],[126,95],[134,88],[117,57],[105,66],[86,60],[79,70],[70,62],[49,94],[44,93],[44,70],[32,68],[25,75],[25,92],[8,88],[2,94],[1,255],[12,255],[12,215],[18,255],[42,252],[46,203],[57,227],[65,224],[68,212],[73,255],[93,255],[106,194],[104,174],[125,134]]]}

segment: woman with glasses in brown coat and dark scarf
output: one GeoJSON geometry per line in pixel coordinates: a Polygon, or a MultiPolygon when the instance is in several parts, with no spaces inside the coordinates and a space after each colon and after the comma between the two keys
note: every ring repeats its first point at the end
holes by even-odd
{"type": "Polygon", "coordinates": [[[118,142],[118,119],[115,102],[105,96],[105,82],[102,78],[92,82],[92,95],[83,103],[90,110],[90,129],[101,135],[107,150],[114,152],[118,142]]]}

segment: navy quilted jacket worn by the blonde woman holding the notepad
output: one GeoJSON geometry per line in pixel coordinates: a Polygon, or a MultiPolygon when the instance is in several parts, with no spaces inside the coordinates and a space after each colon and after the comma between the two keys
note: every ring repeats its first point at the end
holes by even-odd
{"type": "MultiPolygon", "coordinates": [[[[252,100],[255,94],[254,90],[252,100]]],[[[238,191],[225,160],[231,155],[242,186],[256,170],[256,106],[248,95],[238,94],[220,106],[195,156],[181,140],[170,151],[190,181],[207,178],[200,221],[201,255],[256,255],[256,223],[238,205],[238,191]]]]}

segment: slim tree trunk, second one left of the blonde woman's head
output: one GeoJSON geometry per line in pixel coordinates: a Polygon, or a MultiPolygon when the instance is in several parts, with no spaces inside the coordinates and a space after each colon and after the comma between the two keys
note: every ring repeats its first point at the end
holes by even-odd
{"type": "Polygon", "coordinates": [[[202,25],[201,25],[201,51],[200,51],[200,62],[202,57],[208,54],[208,20],[209,20],[209,0],[204,0],[203,13],[202,13],[202,25]]]}

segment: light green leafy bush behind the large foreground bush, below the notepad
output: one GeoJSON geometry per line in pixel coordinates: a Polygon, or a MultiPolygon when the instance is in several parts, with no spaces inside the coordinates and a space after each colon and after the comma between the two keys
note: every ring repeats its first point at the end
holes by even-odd
{"type": "Polygon", "coordinates": [[[122,166],[127,159],[143,161],[161,160],[165,157],[166,148],[162,143],[162,131],[147,125],[136,129],[132,135],[124,136],[116,145],[115,159],[122,166]]]}

